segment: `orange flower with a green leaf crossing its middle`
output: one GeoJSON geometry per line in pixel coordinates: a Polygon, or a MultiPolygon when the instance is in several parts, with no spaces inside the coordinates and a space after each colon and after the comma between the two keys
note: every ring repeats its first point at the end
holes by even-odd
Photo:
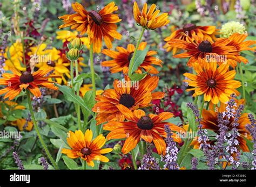
{"type": "MultiPolygon", "coordinates": [[[[141,42],[139,44],[138,50],[143,51],[145,49],[146,45],[147,45],[147,42],[141,42]]],[[[117,50],[118,50],[118,52],[112,51],[109,49],[103,49],[102,53],[107,56],[112,57],[113,60],[102,62],[102,66],[111,67],[110,68],[111,73],[117,73],[117,72],[123,71],[124,74],[127,74],[129,71],[130,60],[133,56],[135,47],[133,44],[129,44],[127,46],[127,49],[125,49],[123,47],[117,47],[117,50]]],[[[144,69],[145,71],[150,69],[149,70],[150,74],[158,74],[159,73],[158,70],[156,68],[154,68],[152,65],[155,64],[155,65],[162,67],[161,63],[163,63],[163,61],[161,61],[157,57],[153,56],[156,54],[157,54],[156,51],[147,52],[147,55],[146,55],[143,63],[140,64],[136,73],[142,73],[142,69],[144,69]]]]}

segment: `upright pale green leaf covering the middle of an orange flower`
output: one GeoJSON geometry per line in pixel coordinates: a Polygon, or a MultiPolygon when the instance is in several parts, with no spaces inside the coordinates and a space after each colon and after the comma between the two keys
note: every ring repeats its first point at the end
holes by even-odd
{"type": "Polygon", "coordinates": [[[129,71],[129,77],[131,78],[131,75],[134,71],[136,71],[138,69],[138,67],[140,66],[140,64],[143,63],[147,52],[149,51],[149,47],[150,46],[146,46],[145,49],[143,51],[138,50],[136,55],[134,56],[134,63],[132,64],[132,58],[130,60],[130,66],[129,69],[131,69],[131,71],[129,71]]]}

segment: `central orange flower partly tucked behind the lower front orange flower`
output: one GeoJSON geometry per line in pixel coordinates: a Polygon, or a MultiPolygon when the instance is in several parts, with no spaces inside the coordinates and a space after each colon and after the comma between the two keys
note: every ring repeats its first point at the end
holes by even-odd
{"type": "Polygon", "coordinates": [[[124,80],[114,80],[114,89],[105,90],[102,95],[97,95],[98,103],[92,111],[98,113],[97,125],[106,121],[124,121],[125,116],[119,111],[117,105],[122,104],[130,110],[147,107],[152,100],[164,97],[164,92],[153,92],[157,88],[159,77],[147,75],[141,81],[132,82],[128,76],[124,80]]]}

